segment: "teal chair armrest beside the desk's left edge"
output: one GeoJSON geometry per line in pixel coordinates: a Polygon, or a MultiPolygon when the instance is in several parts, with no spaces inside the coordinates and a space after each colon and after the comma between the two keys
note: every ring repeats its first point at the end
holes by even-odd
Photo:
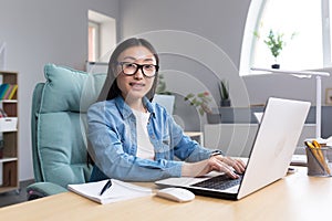
{"type": "Polygon", "coordinates": [[[27,187],[28,200],[33,200],[51,194],[68,192],[68,189],[53,182],[34,182],[27,187]]]}

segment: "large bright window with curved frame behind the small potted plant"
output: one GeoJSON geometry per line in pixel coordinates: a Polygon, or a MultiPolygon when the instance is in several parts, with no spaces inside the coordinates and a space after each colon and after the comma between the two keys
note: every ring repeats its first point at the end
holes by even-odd
{"type": "Polygon", "coordinates": [[[250,74],[251,66],[270,67],[274,63],[263,42],[270,29],[282,33],[287,42],[278,56],[281,69],[331,66],[330,13],[329,0],[252,0],[242,43],[240,75],[250,74]],[[253,34],[256,31],[260,38],[253,34]]]}

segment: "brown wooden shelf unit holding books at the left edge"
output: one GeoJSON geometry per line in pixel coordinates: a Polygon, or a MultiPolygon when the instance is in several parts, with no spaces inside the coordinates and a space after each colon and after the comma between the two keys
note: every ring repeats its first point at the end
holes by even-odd
{"type": "MultiPolygon", "coordinates": [[[[18,84],[18,73],[0,71],[0,78],[2,78],[1,84],[18,84]]],[[[1,101],[2,109],[7,113],[8,117],[18,117],[18,91],[15,92],[12,99],[1,101]]],[[[0,193],[11,190],[19,190],[19,130],[1,130],[3,139],[2,158],[0,158],[0,164],[2,171],[0,179],[2,185],[0,186],[0,193]]]]}

